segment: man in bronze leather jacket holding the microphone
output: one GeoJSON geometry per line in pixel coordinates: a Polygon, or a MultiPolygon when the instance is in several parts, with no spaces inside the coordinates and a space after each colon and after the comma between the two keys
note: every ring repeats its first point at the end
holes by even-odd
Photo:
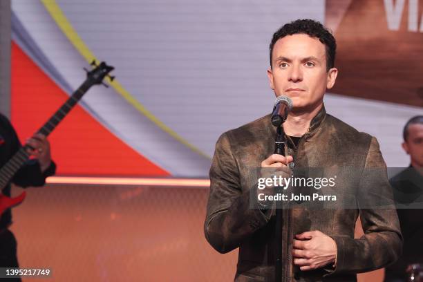
{"type": "MultiPolygon", "coordinates": [[[[275,279],[274,206],[250,205],[257,193],[253,168],[378,168],[382,177],[359,182],[344,177],[337,193],[348,194],[356,185],[361,193],[393,203],[377,140],[325,111],[323,95],[338,73],[335,50],[335,38],[310,19],[287,23],[273,35],[270,87],[293,103],[283,123],[285,156],[273,154],[276,129],[270,115],[223,133],[216,143],[205,236],[221,253],[239,247],[235,281],[275,279]]],[[[402,250],[395,209],[283,209],[283,234],[283,281],[357,281],[357,272],[393,263],[402,250]],[[355,239],[358,216],[364,236],[355,239]]]]}

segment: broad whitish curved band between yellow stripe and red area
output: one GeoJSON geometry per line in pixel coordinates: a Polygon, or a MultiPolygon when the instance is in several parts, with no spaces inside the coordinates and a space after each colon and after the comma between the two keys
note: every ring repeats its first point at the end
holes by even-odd
{"type": "MultiPolygon", "coordinates": [[[[86,78],[82,71],[86,62],[57,28],[44,6],[37,1],[14,1],[12,9],[49,64],[66,77],[71,88],[76,89],[86,78]]],[[[113,62],[108,63],[113,65],[113,62]]],[[[62,85],[62,88],[66,89],[66,86],[62,85]]],[[[209,159],[175,142],[111,88],[93,86],[83,100],[89,106],[87,110],[100,116],[112,133],[173,176],[207,175],[209,159]]]]}

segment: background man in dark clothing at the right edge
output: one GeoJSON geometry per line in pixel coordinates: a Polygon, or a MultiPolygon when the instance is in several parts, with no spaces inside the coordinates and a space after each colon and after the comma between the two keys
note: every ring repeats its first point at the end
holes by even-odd
{"type": "Polygon", "coordinates": [[[403,137],[402,147],[410,155],[411,164],[390,182],[404,245],[400,259],[386,267],[386,282],[408,281],[407,266],[423,263],[423,115],[408,120],[403,137]]]}

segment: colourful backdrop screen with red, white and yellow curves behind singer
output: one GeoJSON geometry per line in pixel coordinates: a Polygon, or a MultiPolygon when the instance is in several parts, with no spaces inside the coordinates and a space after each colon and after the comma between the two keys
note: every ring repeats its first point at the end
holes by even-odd
{"type": "Polygon", "coordinates": [[[312,18],[337,38],[328,113],[375,135],[388,166],[407,166],[402,126],[423,113],[422,10],[422,0],[12,0],[12,122],[25,140],[82,84],[82,68],[106,61],[115,81],[93,86],[50,135],[58,174],[206,177],[218,136],[272,109],[273,32],[312,18]]]}

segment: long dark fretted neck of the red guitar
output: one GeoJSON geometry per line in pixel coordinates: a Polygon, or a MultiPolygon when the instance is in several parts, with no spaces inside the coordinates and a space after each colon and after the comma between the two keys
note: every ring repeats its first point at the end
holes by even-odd
{"type": "MultiPolygon", "coordinates": [[[[37,133],[48,136],[61,122],[64,117],[73,109],[82,96],[88,91],[92,84],[86,81],[77,88],[77,90],[68,98],[68,100],[56,111],[56,113],[42,126],[37,133]]],[[[26,151],[30,148],[28,145],[21,147],[6,164],[0,169],[0,189],[3,189],[12,180],[15,173],[23,167],[23,164],[28,160],[29,153],[26,151]]]]}

